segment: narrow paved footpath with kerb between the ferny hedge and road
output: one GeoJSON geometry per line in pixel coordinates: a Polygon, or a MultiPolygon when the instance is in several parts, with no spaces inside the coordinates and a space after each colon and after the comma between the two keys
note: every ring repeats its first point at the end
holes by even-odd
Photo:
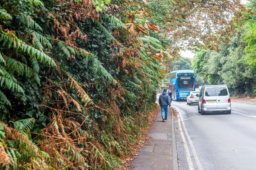
{"type": "Polygon", "coordinates": [[[154,117],[149,140],[139,149],[131,162],[134,170],[178,170],[173,112],[168,109],[168,120],[162,122],[161,112],[154,117]],[[150,143],[149,143],[150,142],[150,143]]]}

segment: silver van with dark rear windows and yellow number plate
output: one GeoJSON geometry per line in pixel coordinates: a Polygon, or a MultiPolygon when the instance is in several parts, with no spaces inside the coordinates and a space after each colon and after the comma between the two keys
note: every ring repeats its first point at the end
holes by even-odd
{"type": "Polygon", "coordinates": [[[198,113],[231,113],[230,94],[227,85],[202,86],[199,94],[198,113]]]}

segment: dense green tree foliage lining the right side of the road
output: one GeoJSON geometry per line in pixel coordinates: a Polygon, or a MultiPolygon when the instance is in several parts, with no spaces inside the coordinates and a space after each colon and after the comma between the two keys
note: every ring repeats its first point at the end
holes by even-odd
{"type": "MultiPolygon", "coordinates": [[[[251,7],[253,7],[253,2],[251,7]]],[[[226,84],[230,93],[245,94],[254,97],[255,89],[255,16],[247,16],[249,22],[243,24],[243,30],[237,30],[228,44],[219,46],[219,53],[200,49],[193,59],[196,73],[207,78],[209,84],[226,84]]]]}

